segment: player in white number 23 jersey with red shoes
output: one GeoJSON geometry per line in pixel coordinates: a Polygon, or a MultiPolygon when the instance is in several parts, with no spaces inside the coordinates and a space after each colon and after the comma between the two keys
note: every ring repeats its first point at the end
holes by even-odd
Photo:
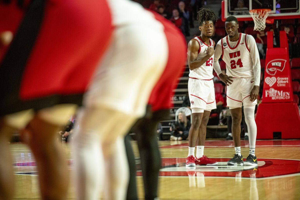
{"type": "Polygon", "coordinates": [[[187,61],[190,68],[188,92],[192,109],[192,124],[189,131],[189,151],[187,167],[196,165],[217,165],[203,154],[206,137],[206,125],[212,109],[216,108],[212,64],[214,60],[214,41],[210,38],[214,32],[214,11],[202,8],[198,12],[201,35],[190,40],[187,47],[187,61]],[[195,157],[195,145],[197,150],[195,157]]]}

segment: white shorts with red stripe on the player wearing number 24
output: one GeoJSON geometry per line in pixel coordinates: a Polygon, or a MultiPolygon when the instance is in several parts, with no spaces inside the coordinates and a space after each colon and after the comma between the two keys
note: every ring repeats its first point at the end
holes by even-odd
{"type": "Polygon", "coordinates": [[[254,85],[253,77],[233,78],[232,80],[232,84],[227,86],[227,106],[256,105],[257,100],[250,101],[250,92],[254,85]]]}

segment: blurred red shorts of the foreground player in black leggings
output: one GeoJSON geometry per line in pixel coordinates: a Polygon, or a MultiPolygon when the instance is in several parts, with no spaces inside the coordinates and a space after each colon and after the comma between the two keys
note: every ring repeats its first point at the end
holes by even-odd
{"type": "MultiPolygon", "coordinates": [[[[154,12],[152,12],[154,13],[154,12]]],[[[171,97],[173,89],[177,87],[178,79],[184,71],[187,46],[182,32],[172,22],[154,13],[155,19],[165,27],[165,34],[169,47],[169,58],[163,74],[156,83],[149,98],[152,111],[170,109],[173,106],[171,97]]]]}

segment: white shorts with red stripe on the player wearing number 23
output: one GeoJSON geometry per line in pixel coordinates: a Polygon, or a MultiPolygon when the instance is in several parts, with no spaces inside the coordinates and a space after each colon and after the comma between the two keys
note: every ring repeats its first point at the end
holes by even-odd
{"type": "Polygon", "coordinates": [[[216,107],[214,96],[214,82],[210,80],[200,80],[189,78],[188,93],[190,97],[190,108],[201,108],[212,110],[216,107]]]}

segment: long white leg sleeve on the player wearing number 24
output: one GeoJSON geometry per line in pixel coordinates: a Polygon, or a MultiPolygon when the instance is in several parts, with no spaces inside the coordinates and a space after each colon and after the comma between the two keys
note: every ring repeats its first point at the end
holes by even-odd
{"type": "Polygon", "coordinates": [[[244,108],[244,115],[248,127],[249,146],[255,148],[257,128],[254,120],[254,109],[244,108]]]}

